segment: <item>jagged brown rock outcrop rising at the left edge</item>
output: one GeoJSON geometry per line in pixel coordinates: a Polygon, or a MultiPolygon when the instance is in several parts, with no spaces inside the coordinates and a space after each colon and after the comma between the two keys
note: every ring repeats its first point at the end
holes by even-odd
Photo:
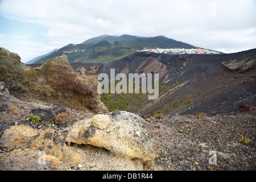
{"type": "Polygon", "coordinates": [[[97,77],[77,75],[67,56],[50,59],[38,68],[28,67],[19,60],[15,53],[0,49],[0,81],[5,82],[16,98],[85,112],[108,112],[97,92],[97,77]]]}

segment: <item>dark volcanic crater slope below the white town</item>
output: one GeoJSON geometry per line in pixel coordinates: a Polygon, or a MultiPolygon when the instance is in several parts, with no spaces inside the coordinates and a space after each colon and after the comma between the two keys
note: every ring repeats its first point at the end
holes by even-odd
{"type": "MultiPolygon", "coordinates": [[[[159,97],[146,94],[103,94],[110,111],[141,115],[216,114],[256,105],[256,49],[221,55],[167,55],[138,52],[110,63],[72,63],[80,75],[159,73],[159,97]]],[[[35,65],[32,65],[35,67],[35,65]]]]}

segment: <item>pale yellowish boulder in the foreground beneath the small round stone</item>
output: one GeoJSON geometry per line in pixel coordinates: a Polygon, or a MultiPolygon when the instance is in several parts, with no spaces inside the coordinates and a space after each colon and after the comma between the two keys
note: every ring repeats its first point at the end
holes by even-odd
{"type": "Polygon", "coordinates": [[[136,114],[126,111],[118,113],[105,129],[95,127],[92,119],[76,122],[68,129],[66,142],[103,147],[114,154],[152,164],[158,154],[152,125],[136,114]]]}

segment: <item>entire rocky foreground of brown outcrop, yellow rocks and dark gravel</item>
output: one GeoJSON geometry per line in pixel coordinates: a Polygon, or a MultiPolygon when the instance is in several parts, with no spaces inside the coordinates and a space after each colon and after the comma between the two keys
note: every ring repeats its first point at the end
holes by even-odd
{"type": "Polygon", "coordinates": [[[0,51],[0,170],[256,169],[254,106],[162,119],[109,113],[95,78],[77,76],[66,57],[39,68],[19,59],[0,51]],[[31,113],[40,121],[28,122],[31,113]]]}

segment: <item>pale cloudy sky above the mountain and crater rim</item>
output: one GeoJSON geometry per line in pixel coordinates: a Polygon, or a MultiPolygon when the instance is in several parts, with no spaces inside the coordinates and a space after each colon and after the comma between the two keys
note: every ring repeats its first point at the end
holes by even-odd
{"type": "Polygon", "coordinates": [[[233,53],[256,48],[255,0],[0,0],[0,47],[25,63],[108,35],[167,38],[233,53]]]}

